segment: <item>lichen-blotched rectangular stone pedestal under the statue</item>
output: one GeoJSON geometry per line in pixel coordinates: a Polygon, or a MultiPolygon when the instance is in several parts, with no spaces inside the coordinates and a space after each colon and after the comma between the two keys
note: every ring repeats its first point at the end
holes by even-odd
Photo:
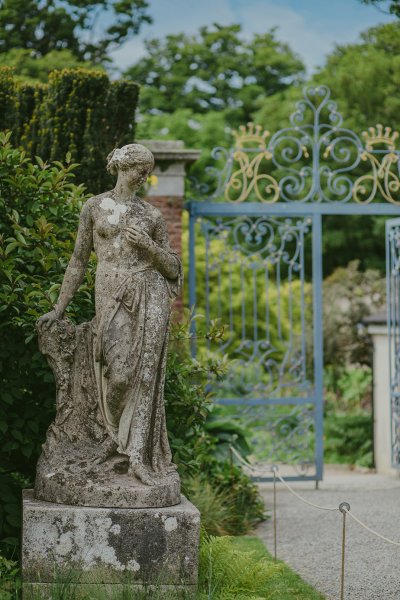
{"type": "MultiPolygon", "coordinates": [[[[196,590],[200,514],[184,496],[167,508],[95,508],[23,497],[24,598],[55,585],[196,590]]],[[[179,597],[179,594],[177,595],[179,597]]]]}

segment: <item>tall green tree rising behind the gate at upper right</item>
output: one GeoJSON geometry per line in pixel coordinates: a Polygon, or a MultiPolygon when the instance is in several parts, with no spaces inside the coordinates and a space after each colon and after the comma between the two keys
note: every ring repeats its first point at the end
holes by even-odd
{"type": "MultiPolygon", "coordinates": [[[[331,89],[343,126],[361,135],[382,123],[400,131],[400,22],[372,27],[354,44],[340,45],[327,57],[312,84],[331,89]]],[[[260,102],[254,116],[271,131],[287,126],[301,89],[294,87],[260,102]]],[[[385,270],[385,218],[328,216],[324,219],[326,274],[350,260],[385,270]]]]}

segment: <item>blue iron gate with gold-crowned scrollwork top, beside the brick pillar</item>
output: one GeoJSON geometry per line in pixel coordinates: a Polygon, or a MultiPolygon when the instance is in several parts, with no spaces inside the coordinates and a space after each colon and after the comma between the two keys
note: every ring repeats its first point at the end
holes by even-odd
{"type": "Polygon", "coordinates": [[[322,217],[399,214],[398,134],[377,125],[361,139],[320,86],[274,135],[252,123],[233,135],[188,203],[190,306],[226,324],[213,351],[230,367],[213,387],[251,431],[257,479],[279,463],[288,479],[321,480],[322,217]]]}

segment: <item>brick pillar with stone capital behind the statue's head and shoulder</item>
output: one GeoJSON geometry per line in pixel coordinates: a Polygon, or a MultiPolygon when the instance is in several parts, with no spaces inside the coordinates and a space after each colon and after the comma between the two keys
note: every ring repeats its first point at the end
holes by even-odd
{"type": "MultiPolygon", "coordinates": [[[[171,247],[182,256],[182,209],[185,198],[185,167],[195,162],[199,150],[184,147],[180,140],[138,140],[154,154],[156,166],[153,175],[157,177],[146,200],[156,206],[167,223],[171,247]]],[[[183,300],[174,302],[174,311],[182,314],[183,300]]]]}

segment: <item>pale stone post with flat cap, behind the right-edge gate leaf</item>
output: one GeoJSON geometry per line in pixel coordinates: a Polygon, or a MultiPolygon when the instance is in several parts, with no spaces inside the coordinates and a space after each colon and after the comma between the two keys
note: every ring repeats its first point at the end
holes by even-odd
{"type": "Polygon", "coordinates": [[[374,454],[376,471],[398,477],[392,467],[389,339],[386,313],[364,319],[373,344],[374,454]]]}

